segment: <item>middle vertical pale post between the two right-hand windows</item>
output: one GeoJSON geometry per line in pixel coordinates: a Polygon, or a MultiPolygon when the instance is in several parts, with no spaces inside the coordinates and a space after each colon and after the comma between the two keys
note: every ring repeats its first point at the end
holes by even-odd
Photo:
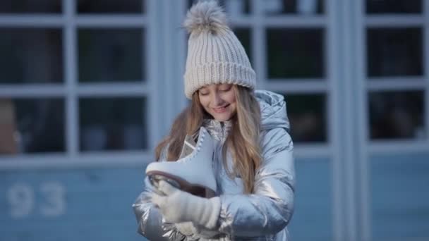
{"type": "Polygon", "coordinates": [[[356,241],[358,200],[356,198],[356,152],[359,148],[356,144],[356,82],[359,81],[356,76],[356,54],[360,50],[356,48],[356,1],[344,1],[342,25],[342,37],[344,47],[342,48],[343,80],[342,86],[342,155],[343,155],[343,192],[344,192],[344,240],[356,241]]]}

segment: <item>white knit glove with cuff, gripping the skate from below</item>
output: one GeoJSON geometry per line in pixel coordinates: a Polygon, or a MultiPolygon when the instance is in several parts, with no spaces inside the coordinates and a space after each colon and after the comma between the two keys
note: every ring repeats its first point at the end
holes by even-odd
{"type": "Polygon", "coordinates": [[[159,207],[165,221],[183,223],[191,221],[206,228],[215,228],[220,212],[219,197],[210,199],[183,192],[161,180],[158,190],[165,195],[152,194],[152,203],[159,207]]]}

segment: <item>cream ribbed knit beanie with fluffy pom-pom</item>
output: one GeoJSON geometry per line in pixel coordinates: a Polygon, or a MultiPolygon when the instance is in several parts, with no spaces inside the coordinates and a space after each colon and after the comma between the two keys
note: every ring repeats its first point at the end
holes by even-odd
{"type": "Polygon", "coordinates": [[[190,34],[184,75],[188,99],[200,87],[211,84],[255,89],[255,71],[243,45],[226,24],[226,15],[217,1],[193,5],[183,25],[190,34]]]}

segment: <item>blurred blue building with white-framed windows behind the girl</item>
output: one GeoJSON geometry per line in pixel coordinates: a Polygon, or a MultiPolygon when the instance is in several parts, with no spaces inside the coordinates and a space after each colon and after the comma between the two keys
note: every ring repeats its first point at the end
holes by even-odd
{"type": "MultiPolygon", "coordinates": [[[[0,240],[143,240],[188,0],[0,1],[0,240]]],[[[429,0],[224,0],[286,96],[293,240],[429,240],[429,0]]]]}

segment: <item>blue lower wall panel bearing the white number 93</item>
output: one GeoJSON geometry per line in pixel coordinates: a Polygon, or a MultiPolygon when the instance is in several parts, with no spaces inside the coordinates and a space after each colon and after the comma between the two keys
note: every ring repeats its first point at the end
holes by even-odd
{"type": "Polygon", "coordinates": [[[144,240],[131,207],[143,189],[143,171],[1,171],[0,240],[144,240]]]}

